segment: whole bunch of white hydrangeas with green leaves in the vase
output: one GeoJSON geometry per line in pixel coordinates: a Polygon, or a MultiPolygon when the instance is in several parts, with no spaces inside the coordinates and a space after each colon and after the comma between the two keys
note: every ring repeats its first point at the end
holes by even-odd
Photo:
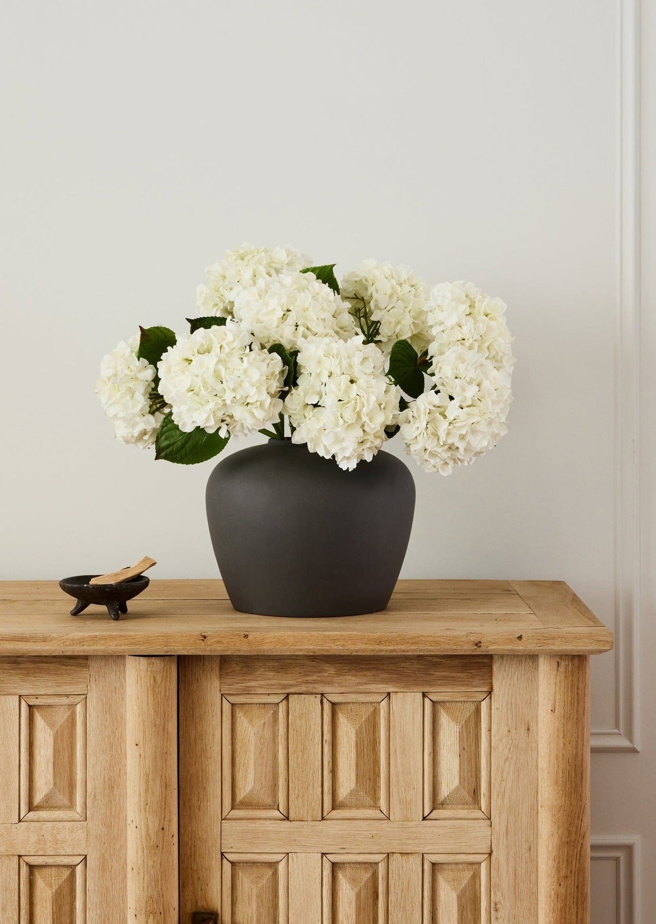
{"type": "Polygon", "coordinates": [[[204,462],[261,432],[352,469],[399,433],[448,475],[506,432],[515,359],[505,305],[470,283],[431,291],[365,260],[341,284],[286,248],[228,251],[206,271],[189,333],[140,328],[96,387],[122,443],[204,462]]]}

